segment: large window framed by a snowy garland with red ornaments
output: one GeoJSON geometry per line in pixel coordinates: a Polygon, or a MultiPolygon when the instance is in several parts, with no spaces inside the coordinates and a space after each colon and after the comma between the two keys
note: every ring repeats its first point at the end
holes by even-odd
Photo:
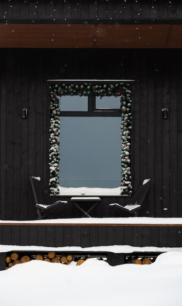
{"type": "Polygon", "coordinates": [[[76,195],[75,189],[83,187],[130,194],[128,88],[121,83],[50,87],[52,194],[73,188],[76,195]]]}

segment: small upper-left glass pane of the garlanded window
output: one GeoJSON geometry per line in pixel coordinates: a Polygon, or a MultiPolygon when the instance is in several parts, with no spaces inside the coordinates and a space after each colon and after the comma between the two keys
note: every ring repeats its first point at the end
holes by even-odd
{"type": "Polygon", "coordinates": [[[61,111],[88,111],[88,96],[61,96],[61,111]]]}

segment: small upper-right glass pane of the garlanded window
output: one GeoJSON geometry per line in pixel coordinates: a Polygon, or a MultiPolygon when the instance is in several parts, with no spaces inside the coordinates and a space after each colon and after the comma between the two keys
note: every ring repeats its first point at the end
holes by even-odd
{"type": "Polygon", "coordinates": [[[95,109],[120,109],[121,97],[103,96],[95,97],[95,109]]]}

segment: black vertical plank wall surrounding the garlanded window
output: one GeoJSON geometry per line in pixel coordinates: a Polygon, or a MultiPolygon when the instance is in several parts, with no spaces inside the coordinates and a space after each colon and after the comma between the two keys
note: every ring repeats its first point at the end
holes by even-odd
{"type": "MultiPolygon", "coordinates": [[[[0,49],[0,219],[35,219],[28,175],[49,181],[47,79],[134,79],[133,190],[151,177],[140,216],[182,217],[182,62],[180,49],[0,49]],[[26,119],[21,110],[28,109],[26,119]],[[168,118],[163,119],[162,109],[168,118]]],[[[53,198],[57,200],[58,197],[53,198]]],[[[70,203],[64,217],[80,217],[70,203]]],[[[114,217],[102,197],[95,217],[114,217]]],[[[110,238],[108,238],[110,239],[110,238]]],[[[37,231],[38,240],[38,231],[37,231]]],[[[98,236],[99,240],[99,236],[98,236]]]]}

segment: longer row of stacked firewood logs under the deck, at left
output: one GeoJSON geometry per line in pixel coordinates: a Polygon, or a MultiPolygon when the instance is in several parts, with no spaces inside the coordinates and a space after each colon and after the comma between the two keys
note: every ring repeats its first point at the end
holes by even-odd
{"type": "Polygon", "coordinates": [[[83,262],[85,262],[87,259],[88,257],[79,258],[79,257],[75,257],[73,254],[56,255],[55,252],[49,252],[46,255],[39,253],[33,256],[32,258],[28,255],[23,255],[22,257],[20,257],[18,253],[12,253],[10,256],[6,257],[6,265],[7,267],[12,267],[13,265],[18,264],[18,263],[30,262],[30,260],[58,262],[62,264],[70,264],[71,262],[74,261],[76,262],[76,265],[80,265],[83,262]]]}

